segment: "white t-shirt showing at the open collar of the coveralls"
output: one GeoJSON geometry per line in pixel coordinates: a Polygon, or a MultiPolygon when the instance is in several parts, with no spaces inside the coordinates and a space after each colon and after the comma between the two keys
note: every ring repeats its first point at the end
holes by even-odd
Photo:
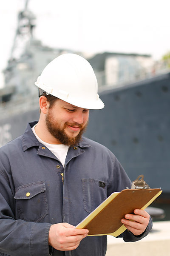
{"type": "MultiPolygon", "coordinates": [[[[37,125],[37,124],[36,124],[37,125]]],[[[47,142],[44,142],[42,139],[40,139],[36,132],[35,132],[35,126],[33,126],[32,131],[35,135],[35,137],[38,139],[39,142],[41,142],[43,145],[45,145],[45,147],[47,147],[58,159],[59,161],[62,163],[62,165],[65,165],[65,158],[67,156],[67,152],[68,152],[68,146],[65,146],[63,144],[49,144],[47,142]]]]}

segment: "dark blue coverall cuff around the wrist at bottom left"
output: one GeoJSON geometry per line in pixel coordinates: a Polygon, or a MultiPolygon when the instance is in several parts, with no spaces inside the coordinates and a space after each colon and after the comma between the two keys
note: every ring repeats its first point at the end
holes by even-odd
{"type": "Polygon", "coordinates": [[[51,256],[52,247],[48,246],[48,234],[52,224],[36,222],[30,237],[31,256],[51,256]]]}

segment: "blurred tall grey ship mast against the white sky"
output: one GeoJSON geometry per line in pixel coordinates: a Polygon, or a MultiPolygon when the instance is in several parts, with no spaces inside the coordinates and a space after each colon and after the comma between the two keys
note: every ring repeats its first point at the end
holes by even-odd
{"type": "Polygon", "coordinates": [[[28,11],[28,1],[29,0],[26,0],[24,10],[20,11],[18,14],[17,31],[14,37],[9,62],[18,60],[26,48],[26,44],[33,38],[35,16],[31,11],[28,11]]]}

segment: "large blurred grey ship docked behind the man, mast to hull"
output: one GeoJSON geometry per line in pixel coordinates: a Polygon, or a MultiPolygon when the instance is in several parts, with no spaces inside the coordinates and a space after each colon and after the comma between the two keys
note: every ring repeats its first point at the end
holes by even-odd
{"type": "MultiPolygon", "coordinates": [[[[72,52],[42,46],[33,37],[34,20],[27,0],[4,71],[6,86],[0,90],[0,146],[39,119],[34,82],[51,60],[72,52]]],[[[131,180],[143,174],[151,188],[161,187],[170,200],[170,71],[154,66],[149,55],[106,52],[88,61],[105,108],[90,111],[85,136],[108,147],[131,180]]]]}

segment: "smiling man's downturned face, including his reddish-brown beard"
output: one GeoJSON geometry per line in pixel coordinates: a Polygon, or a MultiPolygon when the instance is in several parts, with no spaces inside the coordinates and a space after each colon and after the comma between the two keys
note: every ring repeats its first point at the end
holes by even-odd
{"type": "Polygon", "coordinates": [[[88,125],[89,110],[78,108],[57,99],[52,108],[48,108],[45,123],[56,144],[75,146],[81,140],[88,125]]]}

